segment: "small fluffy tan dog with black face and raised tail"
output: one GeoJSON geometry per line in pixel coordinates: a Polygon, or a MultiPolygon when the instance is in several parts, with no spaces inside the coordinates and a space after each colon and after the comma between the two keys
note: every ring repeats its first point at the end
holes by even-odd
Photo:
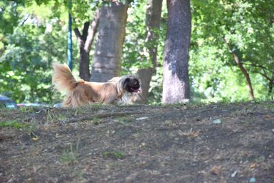
{"type": "Polygon", "coordinates": [[[69,66],[53,63],[52,82],[55,89],[66,91],[65,107],[101,103],[129,103],[140,92],[140,81],[134,76],[113,77],[108,82],[86,82],[73,77],[69,66]]]}

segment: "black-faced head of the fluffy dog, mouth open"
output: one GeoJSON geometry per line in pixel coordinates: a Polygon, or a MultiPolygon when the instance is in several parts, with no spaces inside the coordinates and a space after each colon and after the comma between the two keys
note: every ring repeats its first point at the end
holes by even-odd
{"type": "Polygon", "coordinates": [[[122,86],[129,93],[140,92],[140,81],[134,76],[127,76],[122,82],[122,86]]]}

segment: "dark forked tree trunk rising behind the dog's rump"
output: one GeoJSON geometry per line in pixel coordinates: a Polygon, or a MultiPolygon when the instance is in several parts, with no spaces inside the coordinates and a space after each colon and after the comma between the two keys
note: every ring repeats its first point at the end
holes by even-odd
{"type": "Polygon", "coordinates": [[[90,47],[98,27],[99,15],[100,12],[97,10],[92,23],[84,23],[82,34],[79,29],[74,29],[79,45],[79,77],[86,81],[90,80],[90,47]]]}

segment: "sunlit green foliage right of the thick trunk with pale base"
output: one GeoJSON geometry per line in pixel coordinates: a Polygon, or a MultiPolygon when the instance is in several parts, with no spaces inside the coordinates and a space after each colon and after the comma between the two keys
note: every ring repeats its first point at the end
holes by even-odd
{"type": "Polygon", "coordinates": [[[273,96],[265,89],[269,87],[265,75],[272,77],[274,73],[274,47],[270,43],[274,37],[271,22],[274,9],[273,3],[269,3],[241,0],[192,2],[190,80],[194,93],[203,96],[197,100],[248,100],[245,78],[230,51],[236,53],[249,72],[256,98],[273,96]]]}

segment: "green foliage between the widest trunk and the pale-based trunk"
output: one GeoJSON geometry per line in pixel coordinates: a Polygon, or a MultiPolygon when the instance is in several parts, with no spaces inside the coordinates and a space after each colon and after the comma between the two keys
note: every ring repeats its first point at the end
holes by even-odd
{"type": "MultiPolygon", "coordinates": [[[[123,45],[122,75],[136,73],[140,68],[152,67],[151,59],[147,52],[155,42],[145,45],[146,38],[146,1],[134,1],[128,10],[125,43],[123,45]]],[[[159,35],[157,68],[151,78],[149,88],[149,101],[151,104],[159,104],[162,100],[162,60],[164,53],[164,39],[166,36],[167,10],[163,5],[162,21],[160,29],[155,30],[159,35]]]]}

